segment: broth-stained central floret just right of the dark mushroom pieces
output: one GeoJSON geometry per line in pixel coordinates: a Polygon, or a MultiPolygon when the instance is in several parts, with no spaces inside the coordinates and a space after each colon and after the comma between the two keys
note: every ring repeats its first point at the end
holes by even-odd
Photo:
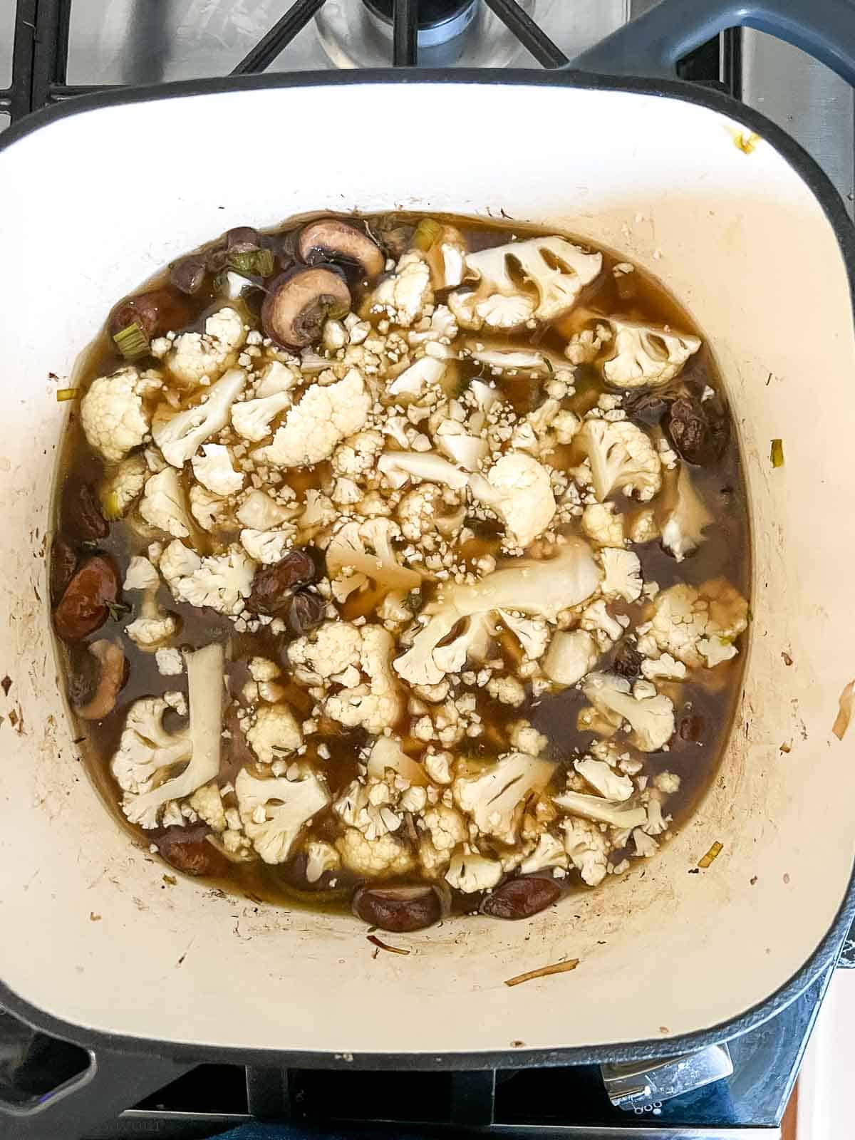
{"type": "Polygon", "coordinates": [[[333,531],[326,548],[326,565],[333,594],[343,602],[370,579],[380,589],[417,589],[422,576],[398,562],[392,547],[399,528],[390,519],[344,521],[333,531]]]}

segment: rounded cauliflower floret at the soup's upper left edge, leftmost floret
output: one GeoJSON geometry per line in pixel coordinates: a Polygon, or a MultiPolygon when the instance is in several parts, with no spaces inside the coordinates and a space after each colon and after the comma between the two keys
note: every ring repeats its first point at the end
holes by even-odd
{"type": "Polygon", "coordinates": [[[152,417],[144,397],[150,390],[150,382],[132,366],[89,385],[80,404],[80,423],[89,446],[108,463],[119,463],[145,442],[152,417]]]}

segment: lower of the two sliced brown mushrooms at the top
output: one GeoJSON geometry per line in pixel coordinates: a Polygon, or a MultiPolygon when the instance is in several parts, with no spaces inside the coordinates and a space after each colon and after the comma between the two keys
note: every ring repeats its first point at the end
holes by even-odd
{"type": "Polygon", "coordinates": [[[270,285],[261,308],[264,333],[278,344],[302,349],[320,339],[327,317],[350,309],[350,290],[326,266],[283,274],[270,285]]]}

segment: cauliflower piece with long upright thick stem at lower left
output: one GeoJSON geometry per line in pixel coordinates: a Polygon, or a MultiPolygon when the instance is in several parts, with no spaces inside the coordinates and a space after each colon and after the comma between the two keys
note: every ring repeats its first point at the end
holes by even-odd
{"type": "Polygon", "coordinates": [[[171,800],[192,796],[217,779],[222,730],[222,645],[206,645],[185,654],[190,723],[168,733],[163,715],[169,705],[160,697],[135,701],[128,712],[111,772],[124,792],[122,811],[131,823],[156,828],[171,800]],[[171,775],[181,763],[186,767],[171,775]]]}

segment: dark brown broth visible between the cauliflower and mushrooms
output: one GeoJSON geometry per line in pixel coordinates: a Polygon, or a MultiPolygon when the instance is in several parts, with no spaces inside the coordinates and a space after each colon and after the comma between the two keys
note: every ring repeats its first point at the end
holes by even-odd
{"type": "MultiPolygon", "coordinates": [[[[268,236],[279,238],[284,234],[291,233],[295,226],[302,226],[306,220],[292,221],[287,227],[271,231],[268,236]]],[[[374,234],[383,235],[390,229],[399,229],[399,239],[406,242],[418,222],[418,215],[369,215],[364,220],[374,234]]],[[[465,218],[440,220],[456,225],[463,231],[471,250],[502,244],[508,241],[511,235],[534,236],[540,233],[535,227],[511,223],[498,225],[465,218]]],[[[583,244],[585,243],[583,242],[583,244]]],[[[586,311],[620,314],[633,319],[644,319],[653,324],[670,324],[686,332],[695,332],[689,315],[660,283],[638,269],[628,276],[617,278],[611,270],[618,261],[624,259],[608,251],[602,252],[603,272],[597,282],[585,291],[578,302],[577,310],[553,327],[538,328],[528,336],[515,334],[513,337],[515,345],[522,347],[528,343],[531,347],[548,349],[560,355],[569,334],[575,327],[578,327],[577,321],[580,319],[578,314],[586,311]]],[[[164,270],[163,274],[140,286],[138,292],[154,287],[166,287],[168,285],[169,274],[164,270]]],[[[215,301],[213,285],[206,285],[199,294],[188,299],[188,301],[194,315],[194,323],[188,327],[198,327],[215,301]]],[[[115,345],[107,335],[105,325],[103,333],[81,356],[78,367],[78,383],[85,388],[92,378],[109,374],[122,363],[115,345]]],[[[726,394],[712,355],[706,345],[693,359],[691,367],[702,375],[718,393],[726,394]]],[[[464,385],[473,376],[481,373],[480,367],[473,361],[462,361],[459,369],[461,383],[464,385]]],[[[490,378],[496,380],[504,398],[513,404],[519,414],[524,414],[535,406],[539,394],[538,382],[490,378]]],[[[593,367],[580,366],[577,369],[576,389],[576,396],[564,401],[564,406],[584,414],[595,404],[597,396],[603,391],[593,367]]],[[[551,457],[549,462],[554,466],[571,465],[573,462],[572,448],[560,449],[551,457]]],[[[97,484],[103,477],[103,464],[89,449],[74,412],[70,416],[65,435],[60,472],[57,494],[57,528],[60,532],[67,532],[65,489],[75,486],[78,481],[97,484]]],[[[318,486],[323,481],[323,477],[324,471],[319,469],[315,469],[314,472],[293,471],[288,472],[286,481],[295,490],[301,491],[307,486],[318,486]]],[[[643,547],[634,545],[633,549],[642,562],[643,577],[645,581],[656,580],[665,589],[677,581],[700,585],[708,578],[722,575],[744,596],[748,596],[750,577],[748,504],[740,467],[739,448],[733,430],[722,461],[715,467],[692,469],[692,478],[695,489],[715,518],[714,524],[707,531],[706,542],[695,555],[681,563],[667,554],[659,542],[643,547]]],[[[665,497],[667,491],[663,491],[660,498],[665,497]]],[[[613,502],[621,512],[633,513],[638,510],[637,503],[624,496],[616,496],[613,502]]],[[[652,505],[657,506],[658,502],[652,505]]],[[[498,555],[498,538],[495,530],[496,528],[489,526],[480,528],[478,537],[465,549],[466,559],[474,560],[486,553],[498,555]]],[[[73,536],[71,537],[73,538],[73,536]]],[[[204,542],[210,539],[210,536],[205,536],[204,532],[199,532],[198,537],[204,542]]],[[[130,556],[135,553],[144,553],[148,539],[139,537],[124,522],[116,522],[112,524],[109,536],[97,545],[98,548],[115,559],[123,577],[130,556]]],[[[423,593],[424,597],[429,597],[430,588],[423,593]]],[[[283,665],[287,661],[288,638],[285,635],[275,636],[268,628],[262,628],[253,634],[237,634],[227,618],[212,610],[201,611],[189,605],[176,604],[165,586],[161,588],[158,600],[181,619],[181,630],[173,644],[198,648],[212,640],[228,643],[229,687],[235,699],[239,699],[241,689],[249,678],[245,663],[247,658],[264,657],[283,665]]],[[[378,595],[370,592],[355,596],[343,606],[343,617],[352,619],[363,613],[368,614],[378,600],[378,595]]],[[[630,614],[633,627],[643,620],[644,606],[642,604],[622,605],[616,609],[618,612],[630,614]]],[[[132,619],[133,613],[129,613],[117,620],[109,620],[90,640],[117,636],[122,627],[132,619]]],[[[119,746],[128,707],[142,695],[171,689],[186,692],[187,678],[186,674],[178,677],[161,676],[153,653],[141,652],[127,637],[122,641],[130,661],[130,674],[116,709],[103,722],[79,722],[75,736],[82,738],[81,747],[87,768],[101,798],[133,838],[147,847],[152,833],[131,828],[119,808],[121,797],[109,774],[109,759],[119,746]]],[[[66,669],[73,676],[80,666],[84,646],[70,648],[64,645],[62,652],[66,669]]],[[[609,662],[610,657],[606,657],[601,661],[598,668],[608,669],[609,662]]],[[[733,720],[741,670],[742,657],[739,657],[717,667],[715,671],[703,670],[700,675],[695,671],[692,679],[678,684],[659,683],[658,685],[659,690],[670,695],[675,702],[677,732],[669,750],[648,755],[645,759],[651,776],[666,769],[681,776],[681,789],[669,798],[667,805],[668,813],[675,819],[674,825],[684,821],[692,811],[697,809],[705,790],[715,775],[717,762],[725,747],[733,720]],[[689,716],[702,718],[703,727],[700,742],[686,741],[681,736],[679,726],[689,716]]],[[[311,715],[315,702],[299,685],[290,684],[287,686],[287,699],[294,708],[298,719],[311,715]]],[[[486,691],[481,691],[479,712],[483,718],[483,735],[477,740],[464,740],[457,748],[473,758],[496,757],[508,748],[511,724],[520,718],[530,719],[534,726],[549,739],[547,756],[560,762],[556,780],[556,783],[560,784],[563,773],[567,767],[571,766],[573,757],[584,755],[589,743],[595,739],[593,733],[579,732],[576,728],[576,718],[584,703],[583,694],[576,689],[569,689],[555,695],[546,695],[538,700],[531,700],[529,693],[526,705],[521,708],[511,708],[499,703],[489,699],[486,691]]],[[[331,751],[331,758],[325,763],[325,773],[331,790],[335,795],[356,776],[357,754],[367,738],[361,730],[345,731],[340,728],[323,739],[331,751]]],[[[317,740],[312,741],[312,743],[317,742],[317,740]]],[[[418,742],[412,738],[404,740],[405,750],[415,752],[417,744],[418,742]]],[[[312,755],[311,751],[309,755],[312,755]]],[[[221,784],[234,777],[234,771],[235,760],[227,746],[223,749],[221,784]]],[[[234,793],[226,798],[226,804],[227,806],[235,805],[234,793]]],[[[321,837],[324,834],[334,837],[334,819],[332,809],[326,809],[316,817],[312,833],[321,837]]],[[[344,910],[349,906],[349,896],[357,882],[356,877],[341,872],[337,874],[339,886],[336,889],[306,890],[295,889],[292,879],[290,864],[286,864],[285,868],[277,868],[268,866],[262,862],[242,863],[234,864],[229,876],[219,881],[218,886],[229,891],[239,891],[253,901],[287,906],[302,905],[316,910],[344,910]]],[[[570,877],[569,882],[576,883],[573,876],[570,877]]],[[[457,896],[455,909],[471,910],[477,902],[477,896],[474,903],[471,895],[457,896]]]]}

